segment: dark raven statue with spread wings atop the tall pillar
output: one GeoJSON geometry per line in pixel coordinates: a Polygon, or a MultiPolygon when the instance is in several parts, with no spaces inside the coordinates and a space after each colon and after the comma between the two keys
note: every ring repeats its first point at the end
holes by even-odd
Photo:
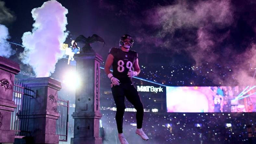
{"type": "Polygon", "coordinates": [[[78,36],[73,43],[73,48],[75,47],[78,48],[77,42],[84,44],[84,46],[80,49],[80,53],[94,52],[94,50],[90,46],[94,42],[102,42],[103,46],[106,45],[105,41],[96,34],[93,34],[91,37],[88,37],[88,38],[84,37],[83,35],[78,36]]]}

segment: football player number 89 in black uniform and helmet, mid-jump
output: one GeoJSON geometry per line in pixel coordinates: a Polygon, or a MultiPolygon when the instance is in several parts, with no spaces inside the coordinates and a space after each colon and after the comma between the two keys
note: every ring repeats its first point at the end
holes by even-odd
{"type": "Polygon", "coordinates": [[[140,73],[138,64],[138,54],[130,50],[133,46],[133,38],[125,34],[120,38],[119,46],[121,48],[111,48],[105,63],[105,72],[111,80],[111,90],[116,104],[116,123],[118,138],[121,144],[128,144],[124,138],[122,125],[124,114],[124,97],[134,105],[136,112],[137,129],[135,133],[142,139],[148,140],[147,135],[142,130],[144,108],[138,91],[134,87],[132,77],[140,73]],[[110,67],[113,67],[113,74],[110,67]]]}

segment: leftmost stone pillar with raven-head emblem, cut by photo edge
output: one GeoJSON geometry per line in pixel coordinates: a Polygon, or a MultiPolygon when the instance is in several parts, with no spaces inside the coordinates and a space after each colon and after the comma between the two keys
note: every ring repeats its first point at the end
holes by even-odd
{"type": "Polygon", "coordinates": [[[14,142],[15,132],[10,131],[11,114],[17,107],[13,102],[14,76],[19,64],[0,56],[0,143],[14,142]]]}

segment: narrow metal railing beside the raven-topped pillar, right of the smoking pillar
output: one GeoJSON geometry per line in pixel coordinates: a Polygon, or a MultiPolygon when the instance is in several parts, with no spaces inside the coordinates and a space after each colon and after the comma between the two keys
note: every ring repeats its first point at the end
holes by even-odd
{"type": "Polygon", "coordinates": [[[56,134],[59,135],[59,141],[68,141],[69,101],[58,97],[57,112],[60,117],[56,123],[56,134]]]}

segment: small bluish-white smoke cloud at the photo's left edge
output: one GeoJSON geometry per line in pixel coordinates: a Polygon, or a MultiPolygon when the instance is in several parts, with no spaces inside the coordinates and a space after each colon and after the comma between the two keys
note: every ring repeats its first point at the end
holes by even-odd
{"type": "Polygon", "coordinates": [[[0,24],[0,56],[9,58],[15,53],[11,48],[10,43],[6,42],[6,39],[9,39],[9,32],[6,26],[0,24]]]}

